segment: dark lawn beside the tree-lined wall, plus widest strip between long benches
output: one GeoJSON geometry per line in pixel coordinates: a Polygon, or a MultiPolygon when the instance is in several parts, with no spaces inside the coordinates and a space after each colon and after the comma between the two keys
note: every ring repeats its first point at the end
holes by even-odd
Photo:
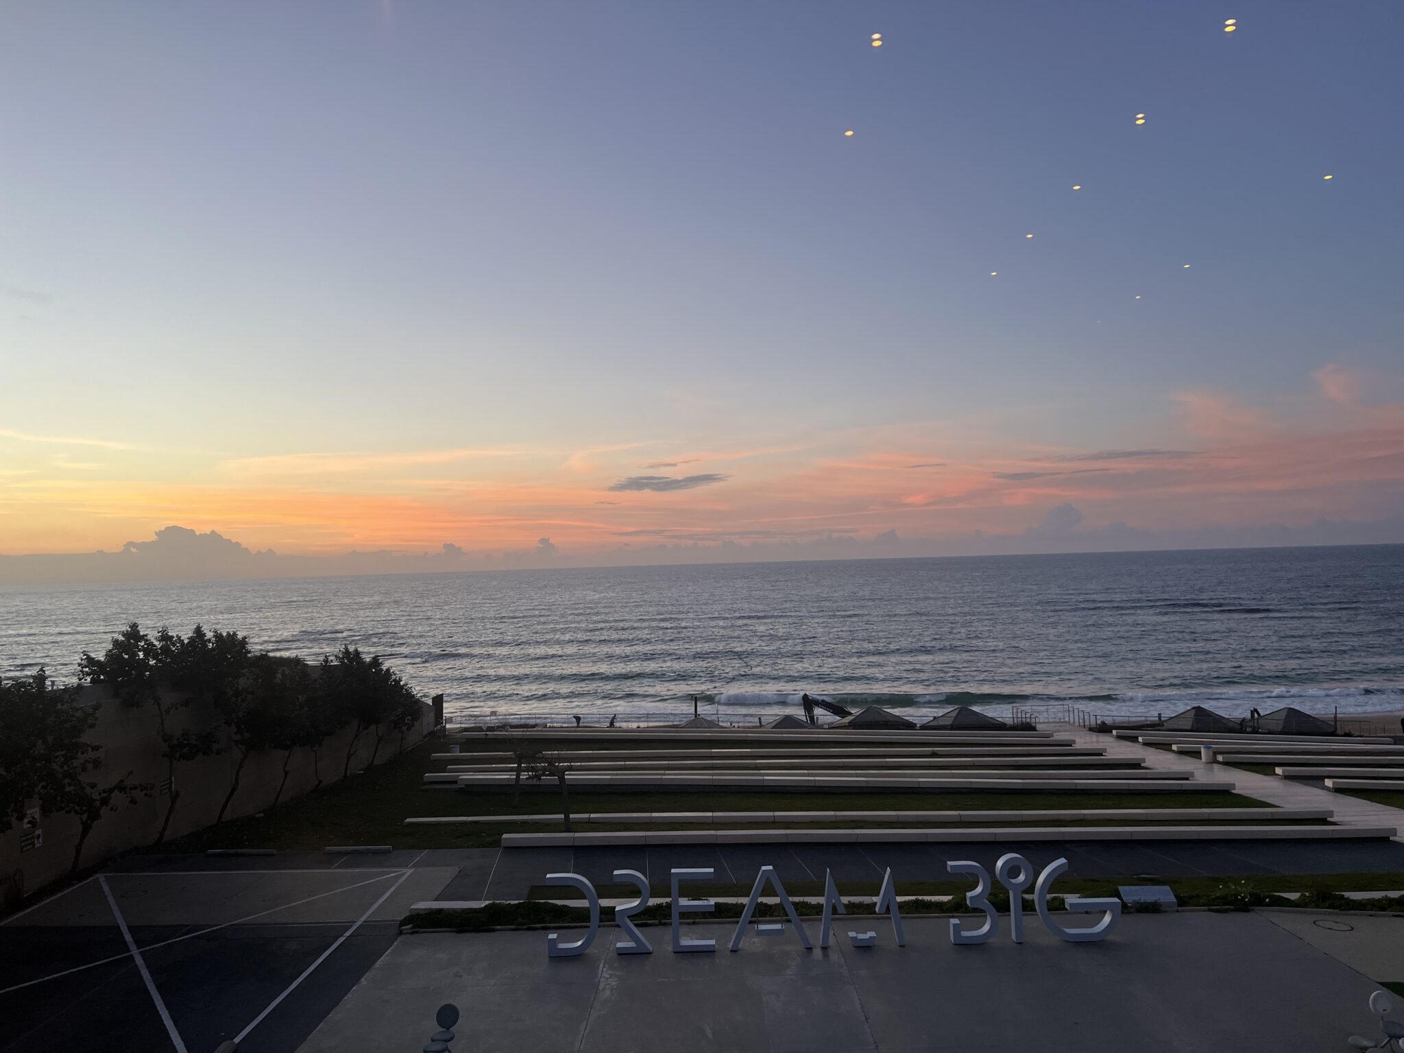
{"type": "MultiPolygon", "coordinates": [[[[421,743],[403,757],[361,775],[289,800],[275,812],[201,830],[161,845],[163,852],[209,848],[322,849],[326,845],[385,844],[396,848],[496,847],[503,833],[543,833],[548,826],[407,827],[410,816],[542,814],[557,807],[555,792],[511,793],[425,790],[428,755],[442,741],[421,743]]],[[[1257,807],[1237,793],[571,793],[571,812],[976,812],[990,809],[1257,807]]],[[[730,824],[729,824],[730,826],[730,824]]],[[[817,824],[816,824],[817,826],[817,824]]],[[[581,827],[608,830],[608,826],[581,827]]],[[[637,828],[637,827],[636,827],[637,828]]],[[[653,827],[657,828],[657,827],[653,827]]]]}

